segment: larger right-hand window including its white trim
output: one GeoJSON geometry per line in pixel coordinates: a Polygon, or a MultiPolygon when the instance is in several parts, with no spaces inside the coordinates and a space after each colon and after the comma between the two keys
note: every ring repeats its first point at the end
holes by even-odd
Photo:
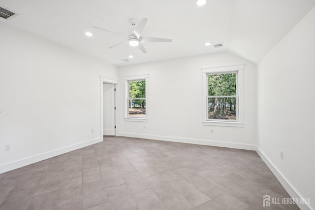
{"type": "Polygon", "coordinates": [[[204,125],[243,126],[244,65],[203,69],[204,125]]]}

